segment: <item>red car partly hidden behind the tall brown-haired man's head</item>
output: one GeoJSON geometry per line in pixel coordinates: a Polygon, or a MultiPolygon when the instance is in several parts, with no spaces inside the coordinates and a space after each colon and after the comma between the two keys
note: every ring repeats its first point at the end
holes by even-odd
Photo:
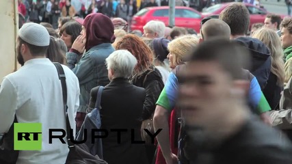
{"type": "MultiPolygon", "coordinates": [[[[224,10],[228,5],[232,4],[231,3],[220,3],[213,5],[204,12],[202,12],[202,16],[210,16],[213,14],[220,14],[222,10],[224,10]]],[[[254,23],[264,23],[265,21],[265,16],[269,14],[265,9],[263,8],[258,8],[255,5],[249,4],[249,3],[244,3],[246,8],[248,8],[248,11],[250,12],[250,28],[252,27],[252,24],[254,23]]],[[[282,18],[284,18],[285,15],[280,15],[282,18]]]]}

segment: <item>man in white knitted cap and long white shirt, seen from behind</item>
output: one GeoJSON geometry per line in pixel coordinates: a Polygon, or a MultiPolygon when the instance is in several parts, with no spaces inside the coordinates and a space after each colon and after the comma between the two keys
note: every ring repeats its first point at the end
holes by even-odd
{"type": "MultiPolygon", "coordinates": [[[[49,143],[49,128],[66,129],[62,85],[57,69],[46,58],[49,40],[49,33],[42,25],[23,25],[16,40],[17,59],[22,67],[4,77],[1,83],[0,133],[8,132],[14,116],[19,123],[42,124],[41,150],[21,150],[17,163],[65,163],[69,152],[68,145],[59,139],[49,143]]],[[[66,74],[68,117],[75,128],[79,82],[69,68],[62,67],[66,74]]]]}

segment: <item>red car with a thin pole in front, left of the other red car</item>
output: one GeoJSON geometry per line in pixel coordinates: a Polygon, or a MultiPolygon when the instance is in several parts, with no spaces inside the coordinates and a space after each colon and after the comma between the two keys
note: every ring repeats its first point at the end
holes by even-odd
{"type": "MultiPolygon", "coordinates": [[[[140,30],[143,33],[143,27],[150,20],[161,20],[165,23],[165,26],[169,25],[169,10],[168,6],[144,8],[137,12],[133,16],[131,22],[131,31],[140,30]]],[[[187,27],[196,30],[198,33],[200,31],[200,21],[202,20],[202,15],[200,12],[187,8],[184,6],[175,7],[175,25],[178,27],[187,27]]]]}

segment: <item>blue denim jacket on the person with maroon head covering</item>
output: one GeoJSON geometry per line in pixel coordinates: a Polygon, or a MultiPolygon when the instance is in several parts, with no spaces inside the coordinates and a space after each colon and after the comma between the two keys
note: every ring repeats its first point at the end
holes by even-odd
{"type": "Polygon", "coordinates": [[[105,59],[114,51],[114,47],[110,43],[99,44],[83,54],[79,61],[76,53],[66,53],[67,66],[79,79],[80,106],[78,112],[85,113],[88,109],[90,90],[93,87],[105,86],[109,83],[105,59]]]}

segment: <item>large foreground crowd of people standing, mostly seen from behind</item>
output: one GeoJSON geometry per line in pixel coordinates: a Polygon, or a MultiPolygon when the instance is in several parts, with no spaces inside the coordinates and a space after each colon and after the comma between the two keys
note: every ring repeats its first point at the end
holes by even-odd
{"type": "Polygon", "coordinates": [[[109,135],[100,157],[109,164],[292,163],[291,17],[269,14],[250,34],[242,3],[204,18],[198,33],[159,20],[146,23],[144,33],[128,33],[124,18],[102,13],[58,20],[56,30],[50,23],[19,29],[21,68],[1,83],[0,133],[14,118],[42,124],[42,150],[21,150],[17,163],[66,161],[68,146],[47,142],[48,129],[66,129],[52,62],[66,75],[74,136],[101,99],[101,128],[109,135]],[[154,143],[133,143],[145,139],[144,128],[162,131],[154,143]]]}

